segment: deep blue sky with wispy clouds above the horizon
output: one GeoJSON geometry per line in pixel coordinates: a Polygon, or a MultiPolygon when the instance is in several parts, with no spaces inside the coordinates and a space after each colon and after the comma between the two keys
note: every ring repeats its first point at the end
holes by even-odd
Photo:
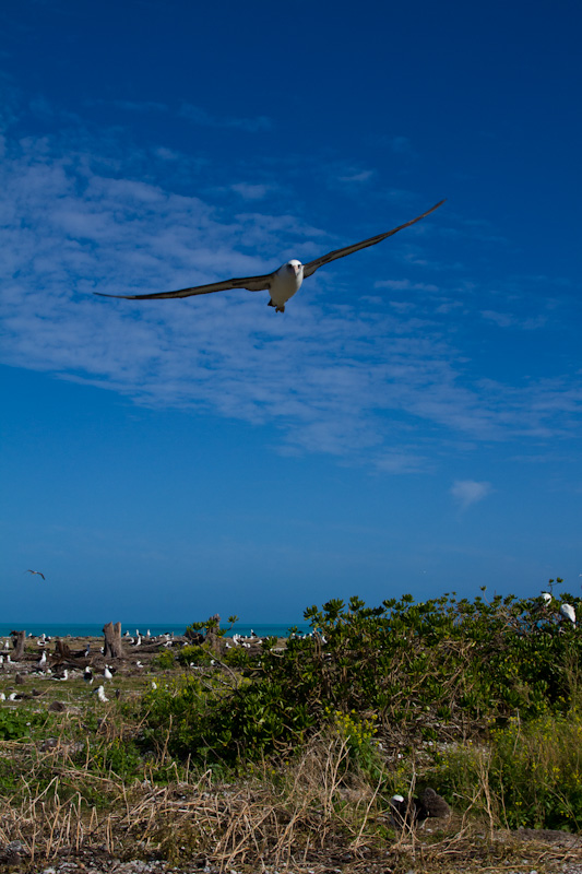
{"type": "Polygon", "coordinates": [[[5,621],[578,593],[579,3],[207,5],[0,9],[5,621]]]}

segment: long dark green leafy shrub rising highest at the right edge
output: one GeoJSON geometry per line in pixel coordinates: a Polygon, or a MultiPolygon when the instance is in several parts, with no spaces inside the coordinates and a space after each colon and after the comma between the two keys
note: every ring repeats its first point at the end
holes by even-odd
{"type": "MultiPolygon", "coordinates": [[[[182,678],[149,695],[144,736],[174,755],[231,766],[297,745],[326,724],[338,728],[348,716],[352,758],[371,772],[377,742],[364,737],[368,729],[359,737],[358,725],[373,724],[378,739],[403,748],[484,737],[518,712],[522,720],[557,717],[579,694],[582,656],[582,637],[561,619],[559,603],[513,595],[470,602],[453,593],[367,607],[358,598],[347,605],[335,599],[306,611],[312,634],[292,634],[283,652],[272,640],[253,660],[228,650],[204,685],[182,678]],[[237,659],[242,672],[225,668],[237,659]]],[[[185,660],[194,652],[198,663],[214,658],[203,645],[187,648],[185,660]]]]}

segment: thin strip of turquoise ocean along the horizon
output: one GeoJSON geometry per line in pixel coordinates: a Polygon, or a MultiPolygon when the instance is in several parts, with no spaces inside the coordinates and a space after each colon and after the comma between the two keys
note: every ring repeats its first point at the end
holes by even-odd
{"type": "MultiPolygon", "coordinates": [[[[0,637],[8,637],[11,631],[22,631],[25,630],[26,634],[33,635],[41,635],[46,634],[49,637],[102,637],[103,635],[103,626],[105,623],[37,623],[37,622],[16,622],[16,623],[0,623],[0,637]]],[[[295,623],[297,630],[299,631],[310,631],[310,626],[305,623],[295,623]]],[[[254,625],[247,624],[247,623],[237,623],[229,631],[227,631],[228,637],[233,637],[235,634],[242,635],[244,637],[250,635],[251,629],[259,637],[287,637],[289,633],[289,628],[294,626],[294,623],[278,623],[278,624],[268,624],[268,623],[256,623],[254,625]]],[[[159,623],[121,623],[121,633],[124,634],[128,630],[131,635],[134,635],[136,630],[140,630],[142,635],[144,635],[147,629],[150,629],[150,634],[152,637],[155,635],[161,634],[171,634],[174,631],[175,635],[183,635],[186,630],[186,625],[180,625],[176,623],[164,623],[161,625],[159,623]]]]}

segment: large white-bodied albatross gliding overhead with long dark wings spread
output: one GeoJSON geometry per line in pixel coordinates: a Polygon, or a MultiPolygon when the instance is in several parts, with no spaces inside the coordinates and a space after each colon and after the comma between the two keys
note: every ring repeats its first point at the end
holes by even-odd
{"type": "Polygon", "coordinates": [[[211,282],[209,285],[194,285],[191,288],[180,288],[177,292],[158,292],[155,294],[105,294],[104,292],[95,292],[95,294],[98,294],[100,297],[122,297],[127,300],[162,300],[165,297],[190,297],[194,294],[225,292],[229,288],[246,288],[249,292],[269,291],[271,293],[269,306],[275,307],[275,312],[285,312],[285,304],[287,300],[299,291],[302,281],[307,279],[307,276],[311,276],[320,267],[329,264],[330,261],[335,261],[336,258],[345,258],[346,255],[357,252],[359,249],[366,249],[368,246],[376,246],[377,243],[381,243],[383,239],[387,239],[387,237],[397,234],[399,231],[416,224],[420,218],[438,210],[443,203],[444,201],[441,200],[421,215],[417,215],[416,218],[406,222],[404,225],[399,225],[399,227],[394,227],[392,231],[387,231],[385,234],[378,234],[376,237],[370,237],[361,243],[354,243],[352,246],[344,246],[343,249],[335,249],[332,252],[328,252],[328,255],[322,255],[313,259],[313,261],[309,261],[307,264],[301,264],[300,261],[293,258],[290,261],[287,261],[286,264],[280,267],[278,270],[273,271],[273,273],[265,273],[262,276],[223,280],[222,282],[211,282]]]}

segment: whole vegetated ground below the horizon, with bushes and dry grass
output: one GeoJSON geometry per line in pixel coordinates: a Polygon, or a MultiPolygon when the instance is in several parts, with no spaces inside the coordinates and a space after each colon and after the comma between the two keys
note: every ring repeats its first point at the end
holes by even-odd
{"type": "Polygon", "coordinates": [[[111,680],[102,640],[66,660],[50,641],[45,670],[31,640],[0,666],[0,864],[582,871],[562,602],[332,601],[306,612],[312,636],[247,647],[209,621],[202,645],[124,646],[111,680]],[[392,795],[426,787],[451,815],[396,826],[392,795]]]}

